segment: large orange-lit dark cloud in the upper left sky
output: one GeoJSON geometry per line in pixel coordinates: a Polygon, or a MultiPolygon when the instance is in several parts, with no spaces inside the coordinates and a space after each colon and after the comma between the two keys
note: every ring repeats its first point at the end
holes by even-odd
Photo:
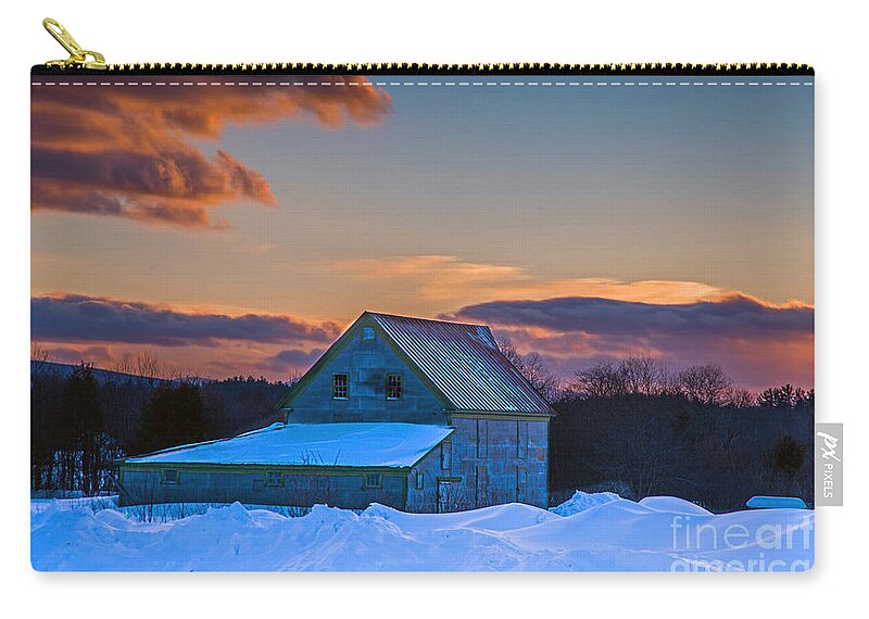
{"type": "Polygon", "coordinates": [[[259,172],[191,140],[216,140],[232,124],[370,125],[390,109],[382,90],[314,79],[332,86],[35,86],[32,209],[203,228],[213,225],[209,209],[227,201],[274,205],[259,172]]]}

